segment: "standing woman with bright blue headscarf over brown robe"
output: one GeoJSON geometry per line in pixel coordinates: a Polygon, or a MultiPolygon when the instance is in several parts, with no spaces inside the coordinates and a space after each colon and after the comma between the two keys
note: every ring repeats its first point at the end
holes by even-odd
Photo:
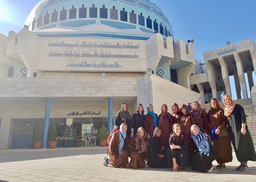
{"type": "Polygon", "coordinates": [[[147,139],[149,140],[154,133],[155,127],[158,127],[157,114],[153,111],[153,105],[147,105],[147,115],[144,120],[144,129],[147,133],[147,139]]]}

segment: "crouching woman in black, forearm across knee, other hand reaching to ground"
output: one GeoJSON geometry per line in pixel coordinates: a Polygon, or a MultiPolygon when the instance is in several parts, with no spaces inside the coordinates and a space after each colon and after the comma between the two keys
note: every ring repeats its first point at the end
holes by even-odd
{"type": "Polygon", "coordinates": [[[173,124],[173,134],[169,139],[170,147],[166,150],[168,167],[173,171],[190,165],[189,135],[181,130],[180,124],[173,124]]]}

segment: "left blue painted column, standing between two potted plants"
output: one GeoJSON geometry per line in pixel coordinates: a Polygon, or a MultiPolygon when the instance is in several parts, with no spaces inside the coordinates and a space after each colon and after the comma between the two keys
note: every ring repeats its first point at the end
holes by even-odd
{"type": "Polygon", "coordinates": [[[43,136],[42,149],[46,149],[47,148],[48,131],[49,131],[49,123],[50,123],[50,104],[51,104],[51,99],[50,98],[46,98],[45,124],[44,124],[44,136],[43,136]]]}

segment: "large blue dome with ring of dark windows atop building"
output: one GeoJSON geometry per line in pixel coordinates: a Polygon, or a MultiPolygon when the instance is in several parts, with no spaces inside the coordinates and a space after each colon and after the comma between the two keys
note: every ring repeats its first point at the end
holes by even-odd
{"type": "Polygon", "coordinates": [[[26,24],[43,37],[173,37],[166,16],[148,0],[42,0],[26,24]]]}

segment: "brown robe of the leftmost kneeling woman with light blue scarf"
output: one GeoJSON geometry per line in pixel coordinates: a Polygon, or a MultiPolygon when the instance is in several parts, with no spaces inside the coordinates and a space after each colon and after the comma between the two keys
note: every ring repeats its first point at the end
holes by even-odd
{"type": "Polygon", "coordinates": [[[118,149],[118,145],[119,145],[119,132],[114,132],[114,134],[112,135],[112,137],[110,138],[110,142],[109,142],[109,157],[110,157],[110,165],[112,165],[113,167],[127,167],[128,166],[128,144],[129,144],[129,137],[126,135],[125,139],[124,139],[124,146],[123,146],[123,154],[120,155],[119,154],[119,149],[118,149]],[[112,161],[111,159],[111,155],[115,156],[115,160],[112,161]]]}

